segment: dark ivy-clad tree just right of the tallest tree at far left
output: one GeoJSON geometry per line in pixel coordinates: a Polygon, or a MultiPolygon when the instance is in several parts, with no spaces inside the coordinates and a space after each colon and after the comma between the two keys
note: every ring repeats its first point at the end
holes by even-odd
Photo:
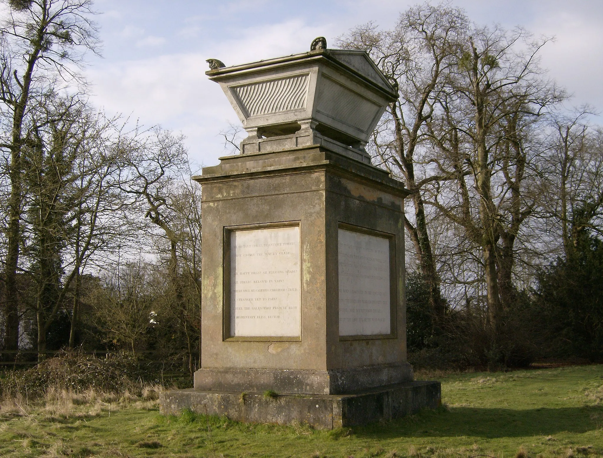
{"type": "MultiPolygon", "coordinates": [[[[48,101],[47,101],[48,102],[48,101]]],[[[33,115],[31,140],[22,157],[24,163],[25,257],[31,259],[28,271],[34,284],[33,308],[36,310],[37,349],[46,350],[46,334],[62,306],[62,251],[70,225],[66,221],[70,198],[72,165],[78,154],[81,136],[80,110],[76,101],[58,101],[54,109],[45,105],[42,116],[33,115]]]]}

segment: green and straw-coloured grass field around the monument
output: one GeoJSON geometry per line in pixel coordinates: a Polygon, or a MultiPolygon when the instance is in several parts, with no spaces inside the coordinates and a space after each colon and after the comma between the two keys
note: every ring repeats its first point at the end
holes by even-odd
{"type": "Polygon", "coordinates": [[[603,365],[435,375],[441,409],[335,431],[165,417],[132,398],[5,407],[0,456],[603,456],[603,365]]]}

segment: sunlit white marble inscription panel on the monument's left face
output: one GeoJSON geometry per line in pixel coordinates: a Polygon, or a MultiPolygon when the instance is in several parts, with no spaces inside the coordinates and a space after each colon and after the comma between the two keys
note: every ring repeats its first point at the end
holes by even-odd
{"type": "Polygon", "coordinates": [[[230,234],[230,334],[298,337],[300,228],[230,234]]]}

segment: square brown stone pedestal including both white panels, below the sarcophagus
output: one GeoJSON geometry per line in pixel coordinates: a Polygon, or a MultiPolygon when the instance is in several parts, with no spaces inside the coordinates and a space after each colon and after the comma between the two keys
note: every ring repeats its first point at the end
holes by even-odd
{"type": "Polygon", "coordinates": [[[219,379],[226,391],[343,394],[412,380],[402,183],[320,146],[223,157],[195,179],[203,186],[202,369],[195,389],[215,389],[219,379]],[[289,237],[290,228],[294,238],[279,242],[285,239],[278,231],[289,237]],[[262,230],[276,230],[276,237],[233,242],[233,234],[262,230]],[[347,233],[383,242],[385,261],[374,262],[381,258],[370,246],[365,253],[340,245],[347,233]],[[289,251],[292,258],[279,263],[285,255],[278,253],[289,251]],[[290,273],[271,273],[283,271],[290,273]],[[285,297],[279,289],[293,291],[285,297]],[[296,308],[273,308],[287,304],[296,308]]]}

